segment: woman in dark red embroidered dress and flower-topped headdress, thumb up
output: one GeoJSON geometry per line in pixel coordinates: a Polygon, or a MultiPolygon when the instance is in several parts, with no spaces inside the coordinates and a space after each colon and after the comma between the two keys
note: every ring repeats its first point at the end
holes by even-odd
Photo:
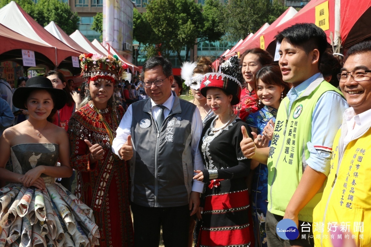
{"type": "Polygon", "coordinates": [[[111,149],[124,109],[116,100],[126,69],[118,57],[82,54],[85,103],[69,122],[71,166],[77,171],[76,196],[91,206],[100,246],[134,246],[128,198],[128,169],[111,149]]]}

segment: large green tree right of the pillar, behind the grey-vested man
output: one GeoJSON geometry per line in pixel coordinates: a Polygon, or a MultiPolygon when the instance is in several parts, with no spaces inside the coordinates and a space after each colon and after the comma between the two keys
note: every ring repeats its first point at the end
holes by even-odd
{"type": "Polygon", "coordinates": [[[134,10],[134,39],[147,46],[154,45],[151,54],[168,57],[174,52],[183,62],[180,52],[184,46],[187,60],[195,44],[216,41],[223,35],[222,8],[218,0],[207,0],[204,7],[190,0],[152,0],[144,14],[134,10]]]}

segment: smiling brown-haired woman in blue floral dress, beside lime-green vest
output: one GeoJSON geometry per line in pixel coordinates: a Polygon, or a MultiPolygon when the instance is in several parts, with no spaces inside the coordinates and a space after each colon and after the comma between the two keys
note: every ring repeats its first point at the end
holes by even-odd
{"type": "MultiPolygon", "coordinates": [[[[255,143],[258,147],[268,147],[272,140],[273,127],[281,100],[290,90],[290,84],[282,80],[278,66],[263,66],[255,74],[254,89],[258,104],[262,108],[247,116],[246,123],[256,134],[255,143]]],[[[265,216],[268,206],[268,168],[266,164],[251,162],[253,170],[251,185],[251,204],[254,222],[254,233],[257,246],[266,247],[265,216]]]]}

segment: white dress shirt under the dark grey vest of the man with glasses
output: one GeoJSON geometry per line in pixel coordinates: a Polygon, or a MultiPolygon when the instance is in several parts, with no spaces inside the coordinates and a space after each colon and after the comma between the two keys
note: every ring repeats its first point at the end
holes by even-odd
{"type": "MultiPolygon", "coordinates": [[[[171,93],[170,97],[165,101],[162,106],[165,106],[164,117],[169,115],[170,110],[173,108],[175,96],[171,93]]],[[[156,103],[151,99],[151,113],[154,120],[157,120],[158,115],[160,114],[161,108],[157,106],[156,103]]],[[[125,112],[124,116],[121,119],[121,122],[116,130],[116,137],[112,142],[112,151],[117,154],[120,158],[119,151],[122,145],[127,141],[128,136],[131,135],[131,123],[132,123],[133,110],[131,105],[128,107],[128,110],[125,112]]],[[[193,160],[193,170],[203,170],[204,164],[202,161],[200,150],[198,149],[198,143],[200,142],[201,133],[203,125],[201,120],[200,111],[196,107],[191,124],[191,155],[193,160]]],[[[194,173],[193,176],[197,175],[194,173]]],[[[193,180],[192,191],[197,191],[203,193],[204,183],[201,181],[193,180]]]]}

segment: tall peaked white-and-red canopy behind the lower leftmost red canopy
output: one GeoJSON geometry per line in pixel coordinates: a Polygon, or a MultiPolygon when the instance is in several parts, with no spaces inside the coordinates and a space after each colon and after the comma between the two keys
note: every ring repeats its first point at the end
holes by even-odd
{"type": "Polygon", "coordinates": [[[46,31],[14,1],[0,9],[0,23],[32,40],[55,47],[55,57],[52,60],[55,66],[69,56],[80,55],[79,51],[70,48],[46,31]]]}

